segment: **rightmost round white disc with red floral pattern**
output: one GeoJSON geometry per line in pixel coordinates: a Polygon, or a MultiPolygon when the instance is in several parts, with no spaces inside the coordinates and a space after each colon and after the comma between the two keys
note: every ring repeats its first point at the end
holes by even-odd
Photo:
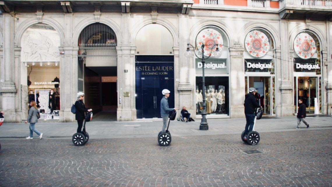
{"type": "Polygon", "coordinates": [[[315,40],[307,33],[300,33],[295,37],[294,50],[301,59],[310,59],[316,52],[315,40]]]}

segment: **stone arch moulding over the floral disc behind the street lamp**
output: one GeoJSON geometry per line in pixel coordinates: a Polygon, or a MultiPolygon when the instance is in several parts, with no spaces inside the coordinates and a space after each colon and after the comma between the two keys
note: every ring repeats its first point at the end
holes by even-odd
{"type": "Polygon", "coordinates": [[[232,32],[230,32],[230,30],[228,29],[229,26],[222,21],[215,21],[215,20],[207,20],[207,21],[201,20],[201,21],[197,22],[197,24],[195,24],[195,26],[193,26],[190,29],[191,32],[189,34],[189,41],[190,41],[189,43],[195,44],[196,36],[198,35],[198,33],[202,29],[204,29],[205,27],[208,27],[208,26],[215,26],[215,27],[218,27],[220,30],[224,31],[225,35],[227,36],[227,40],[229,42],[229,44],[228,44],[229,46],[227,46],[227,47],[233,46],[234,41],[231,39],[234,37],[231,34],[232,32]]]}

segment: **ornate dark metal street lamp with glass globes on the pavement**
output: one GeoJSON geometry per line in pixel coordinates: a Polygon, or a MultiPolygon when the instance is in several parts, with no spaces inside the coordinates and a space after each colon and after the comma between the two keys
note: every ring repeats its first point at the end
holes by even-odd
{"type": "MultiPolygon", "coordinates": [[[[189,46],[191,46],[194,49],[195,49],[195,47],[191,44],[187,44],[187,45],[188,45],[188,47],[187,47],[187,51],[185,52],[185,57],[190,58],[190,57],[193,56],[193,54],[190,51],[189,46]]],[[[221,56],[221,52],[219,51],[218,44],[211,44],[211,45],[207,45],[207,46],[211,49],[211,51],[207,55],[207,57],[204,57],[205,56],[204,55],[204,47],[205,47],[204,44],[202,44],[201,50],[198,50],[199,54],[202,53],[202,58],[198,57],[197,54],[194,51],[195,56],[202,60],[202,65],[203,65],[203,67],[202,67],[202,71],[203,71],[202,72],[203,111],[201,113],[202,114],[202,120],[201,120],[200,130],[208,130],[207,118],[206,118],[207,110],[206,110],[206,102],[205,102],[205,77],[204,77],[205,60],[211,57],[212,50],[214,49],[215,46],[217,48],[216,48],[215,52],[213,53],[214,57],[219,58],[221,56]]]]}

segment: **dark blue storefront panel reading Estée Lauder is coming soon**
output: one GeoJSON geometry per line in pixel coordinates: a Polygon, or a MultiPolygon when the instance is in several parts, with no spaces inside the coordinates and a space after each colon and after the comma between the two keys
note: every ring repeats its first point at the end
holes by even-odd
{"type": "MultiPolygon", "coordinates": [[[[150,60],[166,60],[162,57],[150,60]]],[[[168,103],[170,108],[174,107],[174,62],[173,56],[171,57],[172,59],[167,60],[172,62],[135,63],[137,118],[161,117],[160,100],[163,97],[161,93],[163,89],[171,92],[168,103]]]]}

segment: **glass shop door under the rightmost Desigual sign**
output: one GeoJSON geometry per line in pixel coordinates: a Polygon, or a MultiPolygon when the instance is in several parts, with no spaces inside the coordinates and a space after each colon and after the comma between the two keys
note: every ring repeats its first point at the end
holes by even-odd
{"type": "MultiPolygon", "coordinates": [[[[317,77],[294,77],[294,106],[297,113],[298,99],[302,99],[307,113],[315,113],[315,106],[319,106],[319,89],[317,77]],[[315,103],[316,98],[316,103],[315,103]]],[[[319,107],[318,107],[319,108],[319,107]]],[[[316,110],[318,109],[316,108],[316,110]]],[[[317,111],[319,112],[319,111],[317,111]]]]}

